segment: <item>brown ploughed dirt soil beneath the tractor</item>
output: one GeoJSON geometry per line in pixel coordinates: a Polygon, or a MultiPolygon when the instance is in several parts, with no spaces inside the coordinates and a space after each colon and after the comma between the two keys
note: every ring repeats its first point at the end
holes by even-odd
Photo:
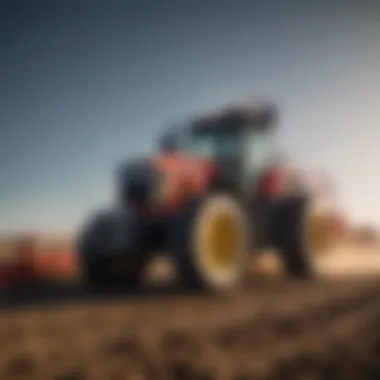
{"type": "Polygon", "coordinates": [[[3,295],[0,380],[378,379],[379,300],[369,277],[255,278],[223,298],[40,284],[3,295]]]}

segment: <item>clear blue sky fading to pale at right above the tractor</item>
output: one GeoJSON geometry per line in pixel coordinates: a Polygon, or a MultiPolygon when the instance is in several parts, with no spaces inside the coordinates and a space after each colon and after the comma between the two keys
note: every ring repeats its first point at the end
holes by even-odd
{"type": "Polygon", "coordinates": [[[278,103],[279,144],[335,177],[353,220],[380,225],[376,3],[1,2],[0,231],[72,230],[166,123],[250,94],[278,103]]]}

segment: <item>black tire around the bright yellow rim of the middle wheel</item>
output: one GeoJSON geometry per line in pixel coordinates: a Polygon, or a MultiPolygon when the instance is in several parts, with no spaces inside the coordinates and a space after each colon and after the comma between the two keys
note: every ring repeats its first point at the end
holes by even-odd
{"type": "MultiPolygon", "coordinates": [[[[180,284],[187,290],[224,293],[239,287],[244,279],[247,267],[246,260],[248,260],[249,257],[248,249],[246,252],[240,253],[241,258],[239,257],[239,260],[241,259],[241,263],[239,261],[236,275],[231,274],[231,280],[226,280],[224,284],[213,279],[211,275],[205,275],[204,267],[202,267],[199,260],[196,259],[199,253],[193,248],[195,224],[196,221],[199,220],[198,218],[201,217],[200,213],[207,207],[206,205],[209,202],[216,202],[216,199],[225,199],[226,202],[228,200],[231,207],[235,207],[236,211],[234,212],[239,212],[242,217],[245,217],[244,208],[238,200],[228,194],[215,193],[203,199],[190,202],[184,207],[181,215],[173,222],[170,229],[169,240],[173,261],[177,269],[180,284]]],[[[246,223],[247,219],[245,219],[244,222],[246,223]]],[[[247,226],[245,225],[244,227],[247,226]]],[[[246,238],[248,238],[246,231],[245,233],[246,238]]]]}

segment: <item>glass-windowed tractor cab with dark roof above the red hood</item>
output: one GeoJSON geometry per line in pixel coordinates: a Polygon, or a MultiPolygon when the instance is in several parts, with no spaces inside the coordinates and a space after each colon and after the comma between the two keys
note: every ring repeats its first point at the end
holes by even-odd
{"type": "Polygon", "coordinates": [[[275,119],[268,106],[230,108],[167,130],[159,149],[210,160],[224,180],[252,188],[274,156],[275,119]]]}

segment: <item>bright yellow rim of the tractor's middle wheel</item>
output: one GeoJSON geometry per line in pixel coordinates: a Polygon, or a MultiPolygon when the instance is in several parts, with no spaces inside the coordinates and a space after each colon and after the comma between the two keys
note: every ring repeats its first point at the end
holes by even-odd
{"type": "Polygon", "coordinates": [[[240,252],[239,224],[234,215],[218,212],[210,216],[201,230],[201,245],[207,269],[217,272],[235,270],[240,252]]]}

